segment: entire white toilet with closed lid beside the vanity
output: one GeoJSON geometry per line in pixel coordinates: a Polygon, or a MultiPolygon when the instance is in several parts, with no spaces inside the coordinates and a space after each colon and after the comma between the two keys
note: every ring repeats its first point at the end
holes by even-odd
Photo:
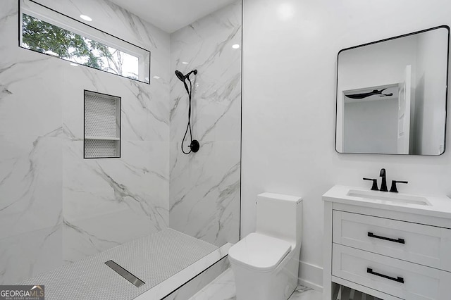
{"type": "Polygon", "coordinates": [[[257,196],[257,227],[231,246],[237,300],[287,300],[297,287],[302,243],[302,199],[257,196]]]}

